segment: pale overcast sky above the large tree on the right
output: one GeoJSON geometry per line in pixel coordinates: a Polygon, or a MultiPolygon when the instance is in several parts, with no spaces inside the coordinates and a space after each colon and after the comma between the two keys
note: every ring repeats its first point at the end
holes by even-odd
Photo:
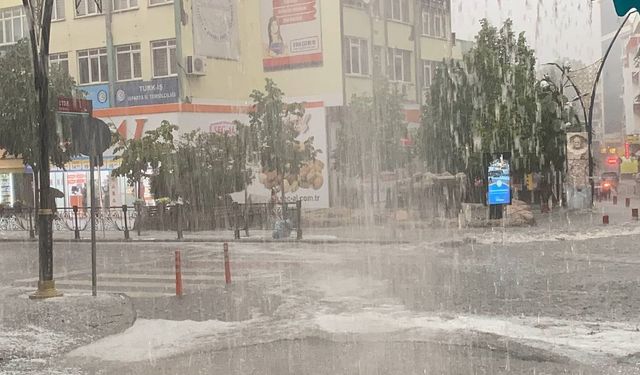
{"type": "Polygon", "coordinates": [[[473,40],[482,18],[496,25],[511,18],[518,32],[525,31],[538,63],[599,58],[599,6],[592,9],[591,0],[451,0],[451,7],[459,39],[473,40]]]}

